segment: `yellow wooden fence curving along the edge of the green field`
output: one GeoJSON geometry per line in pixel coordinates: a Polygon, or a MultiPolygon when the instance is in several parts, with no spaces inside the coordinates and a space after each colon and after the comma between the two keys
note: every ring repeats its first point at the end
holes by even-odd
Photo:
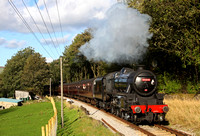
{"type": "Polygon", "coordinates": [[[46,124],[46,126],[41,127],[42,136],[56,136],[57,124],[58,124],[56,105],[52,97],[46,96],[46,98],[49,99],[53,105],[54,116],[51,117],[51,119],[48,121],[48,124],[46,124]]]}

